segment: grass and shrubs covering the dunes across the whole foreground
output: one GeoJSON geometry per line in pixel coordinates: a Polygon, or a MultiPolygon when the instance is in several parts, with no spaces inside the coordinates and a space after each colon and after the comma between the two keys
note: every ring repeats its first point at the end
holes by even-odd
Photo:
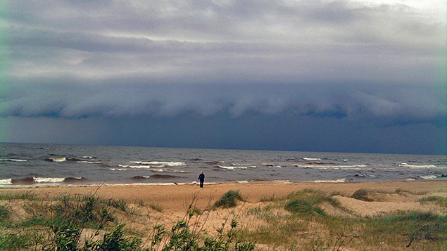
{"type": "MultiPolygon", "coordinates": [[[[0,250],[442,250],[447,246],[445,214],[396,211],[360,216],[338,199],[366,203],[374,193],[359,189],[349,196],[306,188],[248,206],[243,194],[230,190],[203,208],[193,197],[184,217],[174,222],[163,221],[165,210],[157,202],[130,203],[95,194],[2,193],[0,250]],[[331,214],[331,209],[341,213],[331,214]],[[206,231],[211,214],[221,215],[222,224],[206,231]]],[[[420,203],[445,207],[446,198],[441,196],[418,198],[420,203]]]]}

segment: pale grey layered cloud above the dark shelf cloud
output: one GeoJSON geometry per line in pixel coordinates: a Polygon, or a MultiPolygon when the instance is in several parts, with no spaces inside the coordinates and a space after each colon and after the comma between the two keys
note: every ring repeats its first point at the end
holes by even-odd
{"type": "Polygon", "coordinates": [[[437,14],[351,1],[11,1],[0,25],[17,78],[427,85],[446,67],[437,14]]]}

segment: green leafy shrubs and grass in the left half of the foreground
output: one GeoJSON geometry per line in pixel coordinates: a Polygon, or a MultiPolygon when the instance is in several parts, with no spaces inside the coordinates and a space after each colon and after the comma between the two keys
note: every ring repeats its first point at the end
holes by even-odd
{"type": "MultiPolygon", "coordinates": [[[[218,229],[217,236],[201,236],[198,223],[209,210],[201,211],[189,206],[184,219],[170,231],[163,225],[153,226],[146,238],[132,236],[132,229],[125,229],[115,215],[131,214],[125,200],[89,196],[62,195],[58,198],[32,198],[0,195],[0,250],[253,250],[254,244],[238,237],[237,221],[231,229],[218,229]],[[7,201],[6,201],[7,200],[7,201]],[[27,217],[13,219],[11,202],[23,202],[27,217]],[[6,203],[6,205],[5,205],[6,203]],[[9,203],[9,204],[8,204],[9,203]],[[88,236],[82,233],[91,232],[88,236]],[[145,241],[143,241],[145,239],[145,241]]],[[[194,199],[196,200],[196,199],[194,199]]],[[[141,204],[141,203],[140,203],[141,204]]],[[[149,208],[161,211],[159,206],[149,208]]],[[[127,218],[127,219],[131,219],[127,218]]],[[[207,217],[204,222],[206,222],[207,217]]],[[[226,222],[226,221],[225,221],[226,222]]],[[[204,224],[204,223],[203,223],[204,224]]]]}

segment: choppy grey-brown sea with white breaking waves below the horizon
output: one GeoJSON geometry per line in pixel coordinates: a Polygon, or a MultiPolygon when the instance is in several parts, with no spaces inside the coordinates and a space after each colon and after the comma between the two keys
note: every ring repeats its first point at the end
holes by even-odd
{"type": "Polygon", "coordinates": [[[0,143],[0,187],[447,180],[445,155],[0,143]]]}

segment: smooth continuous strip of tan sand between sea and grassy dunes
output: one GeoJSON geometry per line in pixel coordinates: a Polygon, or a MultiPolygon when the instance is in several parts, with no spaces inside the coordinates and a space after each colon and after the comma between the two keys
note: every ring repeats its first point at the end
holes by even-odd
{"type": "Polygon", "coordinates": [[[396,210],[436,211],[445,214],[441,207],[433,204],[421,204],[419,198],[429,195],[447,197],[447,181],[393,181],[393,182],[365,182],[342,184],[210,184],[204,188],[198,185],[172,186],[60,186],[37,188],[1,188],[1,192],[23,192],[41,196],[57,196],[64,193],[71,195],[95,194],[103,198],[124,199],[127,202],[144,201],[148,204],[159,205],[164,214],[185,212],[185,205],[189,205],[194,195],[197,195],[196,207],[204,209],[210,203],[218,200],[229,190],[238,190],[247,202],[246,206],[256,204],[262,198],[282,197],[304,188],[313,188],[327,193],[339,192],[337,195],[341,204],[349,210],[361,215],[373,215],[381,212],[396,210]],[[348,198],[360,188],[394,193],[396,189],[408,191],[400,195],[381,193],[378,201],[365,202],[348,198]]]}

